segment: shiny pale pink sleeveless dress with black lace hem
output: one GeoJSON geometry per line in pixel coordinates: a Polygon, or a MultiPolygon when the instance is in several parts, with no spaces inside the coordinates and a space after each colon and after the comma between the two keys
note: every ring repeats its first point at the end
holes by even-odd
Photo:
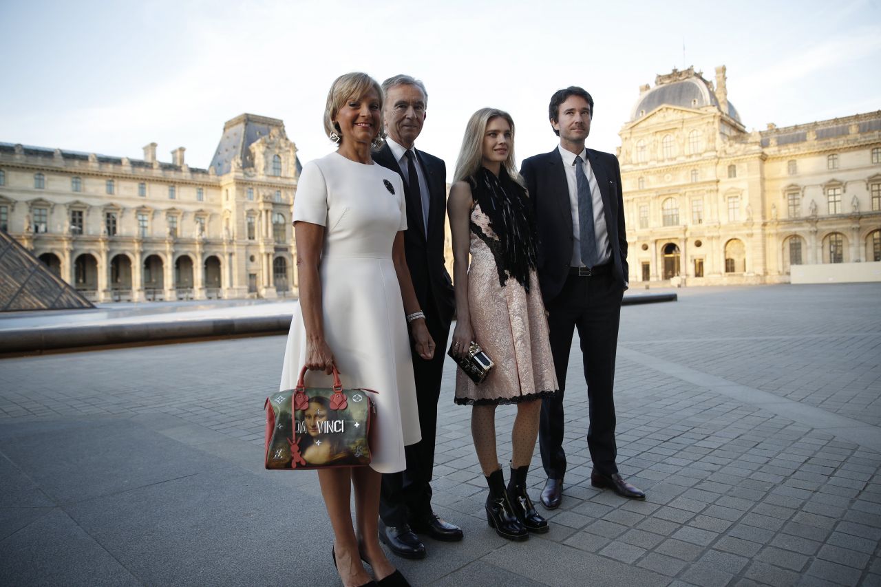
{"type": "Polygon", "coordinates": [[[548,338],[548,321],[536,271],[529,271],[529,293],[499,271],[486,241],[498,241],[490,219],[475,204],[471,210],[468,307],[478,345],[495,363],[483,383],[456,369],[455,403],[515,404],[557,393],[557,375],[548,338]],[[479,231],[479,232],[478,232],[479,231]]]}

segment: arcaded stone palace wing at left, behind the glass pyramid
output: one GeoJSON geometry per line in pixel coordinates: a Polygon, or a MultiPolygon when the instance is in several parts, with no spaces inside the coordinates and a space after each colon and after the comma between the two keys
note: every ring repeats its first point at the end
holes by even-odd
{"type": "Polygon", "coordinates": [[[226,123],[207,169],[0,143],[0,228],[92,301],[292,295],[300,173],[282,121],[226,123]]]}

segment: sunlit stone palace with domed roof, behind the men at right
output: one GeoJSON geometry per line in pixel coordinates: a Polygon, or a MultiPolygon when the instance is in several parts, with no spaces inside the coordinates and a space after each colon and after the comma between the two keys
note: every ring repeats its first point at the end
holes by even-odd
{"type": "Polygon", "coordinates": [[[619,135],[632,286],[881,261],[881,111],[748,132],[725,67],[689,68],[641,86],[619,135]]]}

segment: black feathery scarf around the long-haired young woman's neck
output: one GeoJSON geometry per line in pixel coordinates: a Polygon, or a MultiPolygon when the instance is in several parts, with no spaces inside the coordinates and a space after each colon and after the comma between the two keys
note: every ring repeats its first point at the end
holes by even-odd
{"type": "Polygon", "coordinates": [[[511,179],[504,168],[496,177],[486,167],[468,178],[471,195],[480,204],[480,210],[490,219],[492,232],[498,240],[488,237],[474,222],[471,232],[492,251],[499,283],[508,279],[529,292],[529,271],[536,269],[536,227],[529,208],[529,196],[522,185],[511,179]]]}

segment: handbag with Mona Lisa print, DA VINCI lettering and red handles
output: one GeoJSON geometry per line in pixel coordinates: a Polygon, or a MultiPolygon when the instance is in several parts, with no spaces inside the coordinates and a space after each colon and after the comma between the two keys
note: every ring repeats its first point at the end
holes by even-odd
{"type": "Polygon", "coordinates": [[[374,390],[344,390],[337,366],[333,387],[306,387],[300,369],[297,387],[266,398],[267,469],[321,469],[370,464],[374,390]]]}

